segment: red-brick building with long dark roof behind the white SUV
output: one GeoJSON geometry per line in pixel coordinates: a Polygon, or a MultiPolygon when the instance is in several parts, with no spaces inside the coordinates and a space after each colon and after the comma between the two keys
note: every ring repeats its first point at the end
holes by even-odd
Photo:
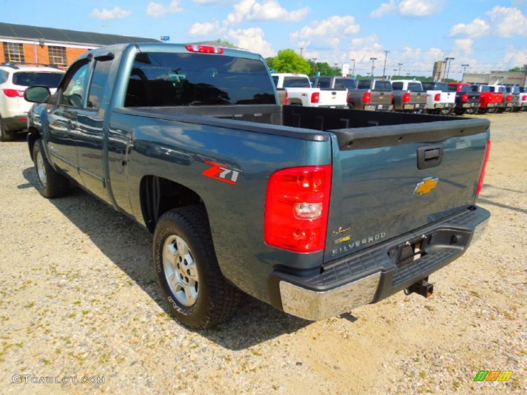
{"type": "Polygon", "coordinates": [[[145,42],[160,41],[153,38],[0,23],[0,63],[56,65],[67,68],[79,55],[92,48],[145,42]]]}

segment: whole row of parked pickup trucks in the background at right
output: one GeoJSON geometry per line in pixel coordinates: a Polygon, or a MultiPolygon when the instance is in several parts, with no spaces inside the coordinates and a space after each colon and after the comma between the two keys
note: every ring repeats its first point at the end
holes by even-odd
{"type": "Polygon", "coordinates": [[[527,111],[527,91],[519,86],[421,82],[305,74],[272,75],[284,104],[463,115],[527,111]]]}

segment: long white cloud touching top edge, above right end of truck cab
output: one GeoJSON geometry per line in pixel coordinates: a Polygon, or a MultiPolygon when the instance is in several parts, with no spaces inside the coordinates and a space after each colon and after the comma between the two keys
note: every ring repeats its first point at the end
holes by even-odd
{"type": "Polygon", "coordinates": [[[238,24],[243,20],[299,22],[310,11],[309,7],[287,11],[277,0],[241,0],[234,9],[233,13],[227,15],[225,24],[238,24]]]}

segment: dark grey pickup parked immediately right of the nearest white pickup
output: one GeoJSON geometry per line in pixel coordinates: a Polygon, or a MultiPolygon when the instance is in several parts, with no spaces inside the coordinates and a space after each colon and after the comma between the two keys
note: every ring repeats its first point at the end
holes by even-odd
{"type": "Polygon", "coordinates": [[[392,84],[386,80],[360,78],[357,89],[348,90],[350,110],[392,111],[392,84]]]}

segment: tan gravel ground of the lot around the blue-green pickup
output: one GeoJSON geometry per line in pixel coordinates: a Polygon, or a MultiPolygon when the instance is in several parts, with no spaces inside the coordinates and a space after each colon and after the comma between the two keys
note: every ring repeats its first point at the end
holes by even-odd
{"type": "Polygon", "coordinates": [[[308,322],[247,297],[203,332],[167,315],[146,231],[78,189],[44,199],[24,140],[0,143],[0,392],[527,392],[527,113],[488,117],[489,228],[431,276],[433,298],[308,322]]]}

